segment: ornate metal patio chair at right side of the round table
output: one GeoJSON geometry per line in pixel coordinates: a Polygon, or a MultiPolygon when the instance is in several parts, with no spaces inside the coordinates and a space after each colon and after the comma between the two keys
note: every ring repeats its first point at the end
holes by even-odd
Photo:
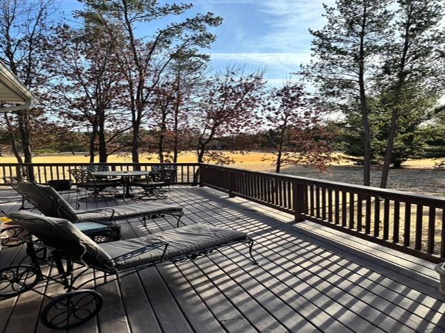
{"type": "Polygon", "coordinates": [[[136,200],[168,198],[162,189],[170,187],[173,173],[172,169],[160,169],[150,172],[146,178],[137,178],[130,182],[130,186],[143,188],[143,191],[136,196],[136,200]]]}

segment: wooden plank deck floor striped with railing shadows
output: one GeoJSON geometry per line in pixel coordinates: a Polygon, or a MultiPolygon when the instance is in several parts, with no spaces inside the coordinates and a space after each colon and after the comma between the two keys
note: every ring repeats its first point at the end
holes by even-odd
{"type": "MultiPolygon", "coordinates": [[[[0,191],[2,199],[14,195],[0,191]]],[[[70,332],[445,332],[433,264],[315,223],[295,224],[288,214],[205,187],[175,187],[164,201],[184,207],[186,224],[248,232],[259,265],[240,245],[147,268],[99,287],[105,301],[99,316],[70,332]]],[[[125,239],[173,228],[170,219],[147,228],[138,219],[120,223],[125,239]]],[[[22,249],[5,249],[0,265],[20,255],[22,249]]],[[[41,288],[61,292],[55,284],[41,288]]],[[[42,302],[32,291],[2,300],[0,332],[52,332],[38,321],[42,302]]]]}

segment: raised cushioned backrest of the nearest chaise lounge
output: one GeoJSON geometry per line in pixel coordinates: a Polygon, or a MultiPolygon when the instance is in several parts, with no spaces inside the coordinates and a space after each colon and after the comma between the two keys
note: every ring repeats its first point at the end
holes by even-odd
{"type": "Polygon", "coordinates": [[[8,216],[44,245],[56,248],[60,255],[67,259],[83,261],[95,268],[107,270],[113,268],[108,253],[70,221],[25,211],[13,212],[8,216]]]}

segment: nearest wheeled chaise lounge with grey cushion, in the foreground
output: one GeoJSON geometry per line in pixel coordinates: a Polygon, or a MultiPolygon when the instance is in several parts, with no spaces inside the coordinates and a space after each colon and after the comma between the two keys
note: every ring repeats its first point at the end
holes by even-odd
{"type": "Polygon", "coordinates": [[[9,216],[40,242],[26,240],[30,264],[25,258],[15,266],[0,269],[0,296],[13,297],[32,290],[49,298],[40,320],[51,329],[70,330],[99,313],[104,301],[91,285],[97,288],[144,268],[196,259],[234,244],[248,245],[250,258],[257,264],[252,255],[254,241],[236,230],[193,224],[136,239],[95,244],[64,219],[29,212],[9,216]],[[79,279],[91,268],[103,274],[79,279]],[[63,285],[66,292],[54,296],[49,294],[51,289],[36,288],[39,282],[48,280],[63,285]]]}

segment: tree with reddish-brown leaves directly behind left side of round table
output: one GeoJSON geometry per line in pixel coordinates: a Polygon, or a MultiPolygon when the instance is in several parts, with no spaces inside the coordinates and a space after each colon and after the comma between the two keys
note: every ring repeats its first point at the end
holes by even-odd
{"type": "Polygon", "coordinates": [[[60,28],[55,46],[58,62],[51,91],[56,97],[57,112],[70,121],[90,128],[90,162],[95,160],[97,141],[99,162],[120,151],[116,144],[122,133],[131,128],[126,121],[122,74],[118,67],[118,44],[102,26],[86,22],[82,29],[60,28]]]}

